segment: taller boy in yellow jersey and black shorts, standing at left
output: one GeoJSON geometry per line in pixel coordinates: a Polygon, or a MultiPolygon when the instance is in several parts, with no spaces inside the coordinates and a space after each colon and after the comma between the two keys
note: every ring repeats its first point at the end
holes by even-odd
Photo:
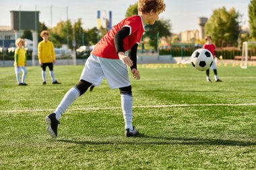
{"type": "Polygon", "coordinates": [[[46,85],[46,67],[48,66],[50,69],[50,76],[53,81],[53,84],[60,84],[54,76],[53,73],[53,63],[55,63],[55,51],[53,42],[49,41],[49,32],[42,31],[40,36],[42,37],[42,41],[38,44],[38,60],[39,64],[42,67],[42,85],[46,85]]]}

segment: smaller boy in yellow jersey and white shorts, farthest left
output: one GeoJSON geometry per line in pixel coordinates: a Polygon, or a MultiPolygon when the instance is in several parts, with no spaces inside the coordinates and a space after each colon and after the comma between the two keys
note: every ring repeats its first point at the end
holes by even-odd
{"type": "Polygon", "coordinates": [[[14,70],[18,85],[27,85],[25,83],[27,70],[26,70],[26,50],[24,49],[25,41],[22,38],[18,38],[15,41],[17,48],[14,53],[14,70]],[[20,82],[20,71],[22,71],[22,82],[20,82]]]}

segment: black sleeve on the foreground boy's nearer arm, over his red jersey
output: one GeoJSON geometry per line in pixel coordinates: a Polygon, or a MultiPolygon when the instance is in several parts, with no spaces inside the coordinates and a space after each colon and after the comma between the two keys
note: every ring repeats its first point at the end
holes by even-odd
{"type": "Polygon", "coordinates": [[[121,28],[121,30],[119,30],[117,32],[117,34],[115,34],[114,36],[114,42],[115,42],[115,48],[116,48],[116,52],[125,52],[124,48],[123,48],[123,39],[125,39],[125,37],[129,36],[130,34],[130,28],[129,27],[123,27],[121,28]]]}

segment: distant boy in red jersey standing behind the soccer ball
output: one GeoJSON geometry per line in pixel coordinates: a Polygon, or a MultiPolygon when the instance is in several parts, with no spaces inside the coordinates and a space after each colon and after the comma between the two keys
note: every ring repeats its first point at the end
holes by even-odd
{"type": "MultiPolygon", "coordinates": [[[[215,56],[215,46],[214,44],[212,44],[212,37],[211,36],[205,36],[205,44],[203,45],[203,48],[207,49],[207,50],[210,50],[210,52],[212,52],[212,56],[214,56],[214,58],[216,57],[215,56]]],[[[214,70],[214,79],[216,82],[222,82],[219,78],[218,78],[218,75],[217,75],[217,67],[216,67],[216,63],[215,61],[212,62],[212,66],[211,66],[211,69],[214,70]]],[[[211,79],[210,79],[210,69],[207,69],[206,71],[206,80],[207,82],[212,82],[211,79]]]]}

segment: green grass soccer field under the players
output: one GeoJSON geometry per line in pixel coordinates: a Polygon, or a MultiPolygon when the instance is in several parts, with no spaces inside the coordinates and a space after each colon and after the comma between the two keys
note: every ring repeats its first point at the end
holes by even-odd
{"type": "Polygon", "coordinates": [[[138,137],[125,138],[119,90],[104,80],[69,107],[55,140],[44,118],[83,67],[56,66],[62,84],[47,71],[46,86],[40,68],[27,67],[27,87],[0,68],[0,169],[256,168],[256,67],[222,65],[223,83],[207,83],[191,65],[139,65],[141,80],[131,80],[138,137]]]}

